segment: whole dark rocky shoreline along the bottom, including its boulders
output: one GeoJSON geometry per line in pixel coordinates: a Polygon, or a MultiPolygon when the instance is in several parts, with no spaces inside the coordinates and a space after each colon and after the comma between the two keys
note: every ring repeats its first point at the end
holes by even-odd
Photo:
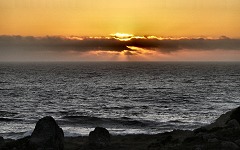
{"type": "Polygon", "coordinates": [[[31,136],[12,140],[0,137],[0,150],[238,150],[240,107],[221,115],[214,123],[195,129],[155,135],[110,135],[96,127],[89,136],[64,137],[50,117],[40,119],[31,136]]]}

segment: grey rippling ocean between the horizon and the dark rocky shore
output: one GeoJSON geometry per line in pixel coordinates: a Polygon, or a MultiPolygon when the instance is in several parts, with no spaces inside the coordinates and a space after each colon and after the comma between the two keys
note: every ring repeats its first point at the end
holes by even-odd
{"type": "Polygon", "coordinates": [[[0,136],[53,116],[65,136],[195,129],[240,105],[239,62],[0,63],[0,136]]]}

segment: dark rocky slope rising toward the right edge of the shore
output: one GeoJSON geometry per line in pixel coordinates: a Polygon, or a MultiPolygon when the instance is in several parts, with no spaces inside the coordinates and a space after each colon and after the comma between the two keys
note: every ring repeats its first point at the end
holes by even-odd
{"type": "Polygon", "coordinates": [[[210,125],[194,131],[173,131],[161,134],[149,150],[239,150],[240,107],[221,115],[210,125]],[[180,134],[180,136],[179,136],[180,134]]]}

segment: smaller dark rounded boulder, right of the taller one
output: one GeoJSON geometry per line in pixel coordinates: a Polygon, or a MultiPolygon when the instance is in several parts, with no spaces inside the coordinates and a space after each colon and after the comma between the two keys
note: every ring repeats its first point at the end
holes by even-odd
{"type": "Polygon", "coordinates": [[[101,147],[110,145],[110,134],[108,130],[102,127],[96,127],[94,131],[89,133],[89,144],[101,147]]]}

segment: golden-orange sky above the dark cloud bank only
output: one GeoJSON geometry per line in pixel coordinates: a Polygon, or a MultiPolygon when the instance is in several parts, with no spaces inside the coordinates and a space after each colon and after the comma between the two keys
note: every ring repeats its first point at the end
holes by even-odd
{"type": "Polygon", "coordinates": [[[6,0],[0,34],[240,37],[239,0],[6,0]]]}

